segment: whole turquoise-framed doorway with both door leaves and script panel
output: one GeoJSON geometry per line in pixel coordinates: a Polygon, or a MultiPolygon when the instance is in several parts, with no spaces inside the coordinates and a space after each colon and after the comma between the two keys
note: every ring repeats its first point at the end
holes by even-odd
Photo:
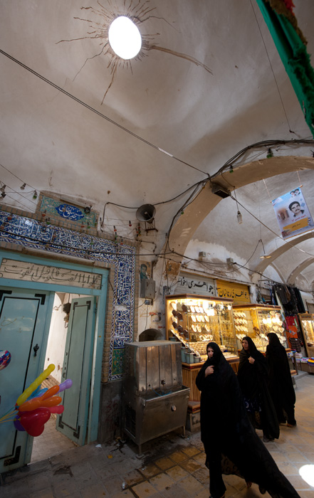
{"type": "Polygon", "coordinates": [[[0,346],[11,361],[0,372],[0,417],[10,415],[0,424],[0,473],[31,462],[41,436],[16,428],[15,403],[50,364],[55,369],[48,383],[73,380],[60,394],[64,412],[53,420],[68,438],[60,440],[84,445],[97,439],[108,281],[108,270],[100,268],[5,256],[0,253],[0,346]]]}

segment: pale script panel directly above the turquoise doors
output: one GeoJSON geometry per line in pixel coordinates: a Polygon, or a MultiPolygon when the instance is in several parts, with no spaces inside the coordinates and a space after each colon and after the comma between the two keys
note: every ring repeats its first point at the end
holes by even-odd
{"type": "Polygon", "coordinates": [[[69,268],[36,265],[26,261],[3,259],[0,266],[0,277],[28,282],[45,282],[57,285],[72,285],[85,289],[100,289],[101,275],[98,273],[80,272],[69,268]]]}

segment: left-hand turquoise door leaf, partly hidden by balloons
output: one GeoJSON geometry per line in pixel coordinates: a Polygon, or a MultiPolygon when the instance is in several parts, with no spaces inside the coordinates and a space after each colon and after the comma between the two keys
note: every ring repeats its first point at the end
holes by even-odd
{"type": "MultiPolygon", "coordinates": [[[[46,321],[52,309],[49,296],[50,292],[0,287],[0,349],[11,353],[10,364],[0,371],[0,417],[41,373],[46,321]]],[[[0,423],[0,472],[28,463],[32,444],[33,438],[16,430],[13,421],[0,423]]]]}

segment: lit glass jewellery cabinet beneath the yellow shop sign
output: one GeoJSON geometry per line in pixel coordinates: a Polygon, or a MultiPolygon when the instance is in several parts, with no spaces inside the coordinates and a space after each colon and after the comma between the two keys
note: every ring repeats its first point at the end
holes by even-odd
{"type": "Polygon", "coordinates": [[[238,349],[242,349],[242,339],[248,336],[251,337],[258,351],[265,352],[269,332],[275,332],[283,347],[288,348],[280,306],[236,304],[233,309],[238,349]]]}

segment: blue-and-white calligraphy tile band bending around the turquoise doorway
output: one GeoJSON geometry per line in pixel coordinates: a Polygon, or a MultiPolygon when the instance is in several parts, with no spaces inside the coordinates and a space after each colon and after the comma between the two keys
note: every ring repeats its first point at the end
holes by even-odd
{"type": "Polygon", "coordinates": [[[0,241],[113,265],[109,380],[122,377],[125,341],[133,339],[135,247],[0,211],[0,241]]]}

